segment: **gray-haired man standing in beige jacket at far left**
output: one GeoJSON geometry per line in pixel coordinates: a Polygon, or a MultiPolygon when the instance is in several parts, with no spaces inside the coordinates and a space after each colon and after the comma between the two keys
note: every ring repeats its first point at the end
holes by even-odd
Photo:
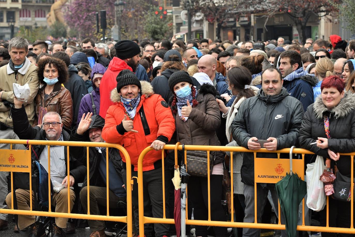
{"type": "MultiPolygon", "coordinates": [[[[13,87],[12,83],[24,85],[28,83],[30,87],[30,95],[27,102],[24,103],[27,118],[32,125],[34,120],[34,103],[33,99],[37,95],[39,81],[37,77],[36,66],[26,58],[28,52],[28,41],[21,37],[12,38],[9,43],[9,64],[0,68],[0,139],[18,139],[13,132],[12,117],[10,113],[13,104],[13,87]]],[[[23,145],[13,144],[13,149],[25,149],[23,145]]],[[[0,144],[0,149],[10,149],[10,144],[0,144]]],[[[7,172],[0,172],[0,208],[7,195],[7,172]]],[[[7,228],[7,215],[0,214],[0,230],[7,228]]]]}

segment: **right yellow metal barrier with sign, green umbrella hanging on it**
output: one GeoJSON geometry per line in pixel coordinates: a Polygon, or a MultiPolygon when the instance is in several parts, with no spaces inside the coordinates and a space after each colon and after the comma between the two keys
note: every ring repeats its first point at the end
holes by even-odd
{"type": "MultiPolygon", "coordinates": [[[[144,224],[145,223],[165,223],[165,224],[175,224],[174,219],[166,218],[165,215],[165,190],[164,183],[171,182],[171,180],[164,180],[164,153],[165,150],[170,150],[174,152],[175,150],[175,167],[178,166],[177,160],[177,151],[182,150],[182,145],[180,143],[176,145],[165,145],[164,150],[162,150],[162,179],[163,179],[163,217],[148,217],[144,216],[144,206],[143,206],[143,158],[149,152],[153,150],[152,148],[147,147],[142,151],[140,157],[138,159],[138,209],[139,209],[139,233],[140,236],[144,235],[144,224]]],[[[198,146],[198,145],[185,145],[185,163],[186,163],[186,151],[207,151],[207,157],[209,157],[210,151],[229,151],[230,158],[230,175],[231,175],[231,221],[211,221],[211,197],[210,197],[210,177],[208,176],[208,220],[189,220],[187,217],[187,201],[186,201],[186,225],[202,225],[202,226],[225,226],[225,227],[240,227],[240,228],[258,228],[258,229],[271,229],[271,230],[285,230],[285,225],[281,224],[280,218],[280,204],[278,203],[278,216],[279,222],[278,224],[264,224],[257,223],[256,211],[257,205],[255,204],[255,222],[254,223],[245,223],[245,222],[234,222],[234,208],[233,208],[233,153],[235,152],[253,152],[254,153],[254,161],[255,161],[255,184],[256,183],[277,183],[280,181],[290,169],[290,160],[289,159],[281,159],[281,153],[290,153],[290,148],[285,148],[278,151],[268,151],[264,148],[260,150],[249,150],[244,147],[227,147],[227,146],[198,146]],[[257,153],[277,153],[278,158],[258,158],[257,153]],[[259,177],[258,177],[259,176],[259,177]]],[[[304,180],[304,157],[305,154],[313,154],[312,152],[305,149],[292,149],[293,154],[301,154],[302,159],[296,160],[293,159],[293,171],[297,172],[302,180],[304,180]]],[[[340,155],[349,155],[351,159],[354,159],[354,153],[348,154],[340,154],[340,155]]],[[[207,159],[208,160],[208,159],[207,159]]],[[[351,187],[354,190],[354,162],[351,163],[351,187]]],[[[208,160],[208,173],[209,173],[209,160],[208,160]]],[[[189,185],[189,184],[187,184],[189,185]]],[[[255,203],[256,203],[256,185],[255,185],[255,203]]],[[[189,195],[187,193],[187,198],[189,195]]],[[[353,209],[354,209],[354,201],[351,198],[351,226],[350,228],[339,228],[339,227],[329,227],[329,196],[327,196],[327,205],[326,205],[326,213],[327,213],[327,224],[326,227],[322,226],[306,226],[305,225],[305,215],[304,215],[304,207],[305,207],[305,199],[302,200],[302,225],[297,226],[298,231],[314,231],[314,232],[333,232],[333,233],[355,233],[355,229],[353,226],[353,209]]],[[[173,216],[173,215],[171,215],[173,216]]]]}

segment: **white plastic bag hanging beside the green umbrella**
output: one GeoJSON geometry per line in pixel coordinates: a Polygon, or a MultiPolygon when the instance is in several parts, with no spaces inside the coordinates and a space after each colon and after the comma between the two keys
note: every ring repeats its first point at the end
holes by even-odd
{"type": "Polygon", "coordinates": [[[322,156],[317,156],[315,163],[307,164],[307,201],[308,208],[314,211],[323,210],[327,203],[326,193],[324,192],[324,183],[320,181],[326,166],[322,156]]]}

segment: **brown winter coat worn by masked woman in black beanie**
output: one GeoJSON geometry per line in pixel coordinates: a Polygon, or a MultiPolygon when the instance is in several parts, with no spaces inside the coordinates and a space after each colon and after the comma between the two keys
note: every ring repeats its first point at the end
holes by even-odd
{"type": "MultiPolygon", "coordinates": [[[[185,145],[220,146],[216,130],[221,123],[218,103],[215,99],[217,91],[214,86],[203,84],[198,91],[198,104],[192,106],[189,119],[182,121],[179,114],[174,114],[179,142],[185,145]]],[[[172,108],[174,109],[174,108],[172,108]]],[[[214,152],[211,152],[214,155],[214,152]]],[[[214,165],[224,161],[222,152],[216,152],[214,165]]]]}

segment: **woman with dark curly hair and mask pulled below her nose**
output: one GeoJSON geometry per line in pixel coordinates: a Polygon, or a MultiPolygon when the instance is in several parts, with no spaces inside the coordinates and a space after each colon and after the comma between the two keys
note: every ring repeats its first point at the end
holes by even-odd
{"type": "Polygon", "coordinates": [[[73,121],[73,101],[70,92],[62,85],[68,78],[64,61],[58,58],[45,58],[38,62],[38,79],[43,85],[38,90],[35,102],[35,121],[33,126],[42,124],[47,112],[57,112],[66,128],[73,121]]]}

